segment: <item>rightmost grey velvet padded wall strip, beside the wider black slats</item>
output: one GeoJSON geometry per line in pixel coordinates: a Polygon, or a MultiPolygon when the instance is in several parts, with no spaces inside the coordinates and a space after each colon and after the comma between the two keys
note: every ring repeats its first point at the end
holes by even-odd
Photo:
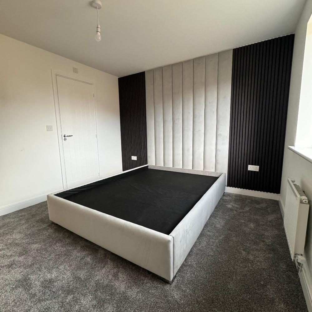
{"type": "Polygon", "coordinates": [[[218,63],[218,96],[217,96],[217,136],[216,136],[216,171],[227,173],[231,82],[232,82],[232,50],[219,53],[218,63]]]}

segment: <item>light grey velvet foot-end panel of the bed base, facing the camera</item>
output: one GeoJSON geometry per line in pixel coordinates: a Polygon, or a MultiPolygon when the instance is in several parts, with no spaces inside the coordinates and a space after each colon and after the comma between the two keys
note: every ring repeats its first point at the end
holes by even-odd
{"type": "Polygon", "coordinates": [[[173,237],[48,195],[52,222],[149,270],[173,279],[173,237]]]}

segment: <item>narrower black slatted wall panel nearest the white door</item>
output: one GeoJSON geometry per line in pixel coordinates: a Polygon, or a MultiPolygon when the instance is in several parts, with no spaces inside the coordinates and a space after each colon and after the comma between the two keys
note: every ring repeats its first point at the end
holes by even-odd
{"type": "Polygon", "coordinates": [[[122,169],[128,170],[147,164],[145,72],[118,78],[118,87],[122,169]]]}

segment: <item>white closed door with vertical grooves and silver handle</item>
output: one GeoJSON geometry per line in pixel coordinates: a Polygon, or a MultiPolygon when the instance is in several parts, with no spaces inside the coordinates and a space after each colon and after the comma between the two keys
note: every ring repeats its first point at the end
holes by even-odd
{"type": "Polygon", "coordinates": [[[67,188],[100,178],[93,85],[56,76],[67,188]]]}

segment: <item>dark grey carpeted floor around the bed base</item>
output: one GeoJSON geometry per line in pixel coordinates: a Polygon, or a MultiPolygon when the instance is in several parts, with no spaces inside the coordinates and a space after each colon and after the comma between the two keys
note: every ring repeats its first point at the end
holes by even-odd
{"type": "Polygon", "coordinates": [[[225,193],[172,285],[49,221],[0,217],[0,311],[307,311],[278,202],[225,193]]]}

